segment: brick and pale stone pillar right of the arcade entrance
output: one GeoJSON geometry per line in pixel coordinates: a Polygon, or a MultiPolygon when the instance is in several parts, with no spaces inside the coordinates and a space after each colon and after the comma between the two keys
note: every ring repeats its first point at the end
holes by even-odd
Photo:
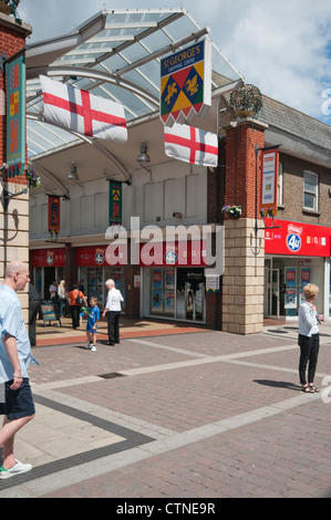
{"type": "Polygon", "coordinates": [[[227,127],[225,204],[241,205],[240,218],[226,215],[223,331],[250,334],[263,330],[263,231],[259,217],[260,165],[256,147],[265,145],[267,125],[251,118],[227,127]],[[257,163],[258,160],[258,163],[257,163]],[[257,170],[256,170],[257,167],[257,170]]]}

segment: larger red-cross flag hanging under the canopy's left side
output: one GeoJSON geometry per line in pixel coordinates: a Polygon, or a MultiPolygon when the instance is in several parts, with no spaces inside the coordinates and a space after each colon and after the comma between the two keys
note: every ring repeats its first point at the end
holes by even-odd
{"type": "Polygon", "coordinates": [[[90,137],[127,141],[123,105],[46,76],[40,82],[46,121],[90,137]]]}

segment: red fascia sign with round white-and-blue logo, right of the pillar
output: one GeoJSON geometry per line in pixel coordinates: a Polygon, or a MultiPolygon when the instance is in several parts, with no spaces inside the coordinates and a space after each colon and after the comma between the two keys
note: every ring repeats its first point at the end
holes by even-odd
{"type": "MultiPolygon", "coordinates": [[[[270,223],[266,219],[267,227],[270,223]]],[[[330,257],[331,228],[287,220],[275,220],[275,225],[280,227],[265,230],[266,254],[330,257]]]]}

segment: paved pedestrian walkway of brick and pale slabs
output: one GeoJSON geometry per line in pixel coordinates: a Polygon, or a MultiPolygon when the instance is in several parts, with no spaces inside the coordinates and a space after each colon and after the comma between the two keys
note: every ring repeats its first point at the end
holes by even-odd
{"type": "Polygon", "coordinates": [[[101,325],[96,352],[63,325],[38,326],[37,416],[15,445],[33,469],[0,498],[331,496],[331,325],[308,395],[296,324],[237,336],[125,321],[116,346],[101,325]]]}

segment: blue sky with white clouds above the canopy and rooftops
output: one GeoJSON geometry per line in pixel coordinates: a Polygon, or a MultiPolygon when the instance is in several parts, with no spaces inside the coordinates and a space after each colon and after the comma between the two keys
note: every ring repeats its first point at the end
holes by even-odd
{"type": "Polygon", "coordinates": [[[330,0],[21,0],[19,14],[34,42],[68,33],[102,9],[178,7],[210,28],[247,83],[331,124],[330,0]]]}

